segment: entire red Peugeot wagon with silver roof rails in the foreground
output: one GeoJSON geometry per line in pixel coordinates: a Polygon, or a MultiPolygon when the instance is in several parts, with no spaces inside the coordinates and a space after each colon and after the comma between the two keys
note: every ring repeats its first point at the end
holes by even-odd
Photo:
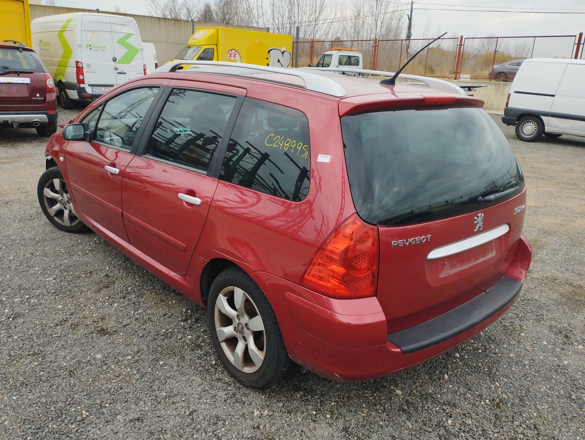
{"type": "Polygon", "coordinates": [[[54,134],[39,202],[207,307],[239,382],[386,376],[517,299],[524,176],[482,101],[428,78],[178,64],[54,134]]]}

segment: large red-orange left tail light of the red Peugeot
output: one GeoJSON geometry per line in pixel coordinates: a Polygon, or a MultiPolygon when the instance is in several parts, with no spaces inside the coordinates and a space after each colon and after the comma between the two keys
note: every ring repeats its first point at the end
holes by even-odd
{"type": "Polygon", "coordinates": [[[336,298],[373,296],[377,271],[378,230],[353,214],[321,245],[301,285],[336,298]]]}

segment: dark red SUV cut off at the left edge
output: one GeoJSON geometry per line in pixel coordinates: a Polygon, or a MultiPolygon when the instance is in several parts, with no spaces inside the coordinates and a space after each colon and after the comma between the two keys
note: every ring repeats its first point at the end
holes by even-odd
{"type": "Polygon", "coordinates": [[[57,131],[53,78],[35,51],[18,41],[0,43],[0,127],[35,128],[40,136],[57,131]]]}

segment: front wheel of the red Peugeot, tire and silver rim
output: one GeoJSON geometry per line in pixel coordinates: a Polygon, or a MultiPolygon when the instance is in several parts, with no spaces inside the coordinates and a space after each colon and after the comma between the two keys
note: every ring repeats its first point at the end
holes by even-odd
{"type": "Polygon", "coordinates": [[[90,230],[77,217],[63,174],[58,167],[49,168],[40,176],[37,196],[40,209],[54,227],[74,234],[82,234],[90,230]]]}

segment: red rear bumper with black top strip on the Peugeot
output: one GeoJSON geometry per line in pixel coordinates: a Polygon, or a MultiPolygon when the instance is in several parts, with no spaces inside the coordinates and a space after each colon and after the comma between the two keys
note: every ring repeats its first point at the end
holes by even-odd
{"type": "Polygon", "coordinates": [[[424,362],[486,329],[519,296],[531,259],[524,236],[494,286],[445,314],[387,334],[376,297],[332,299],[265,272],[252,278],[266,292],[291,359],[342,382],[377,379],[424,362]]]}

